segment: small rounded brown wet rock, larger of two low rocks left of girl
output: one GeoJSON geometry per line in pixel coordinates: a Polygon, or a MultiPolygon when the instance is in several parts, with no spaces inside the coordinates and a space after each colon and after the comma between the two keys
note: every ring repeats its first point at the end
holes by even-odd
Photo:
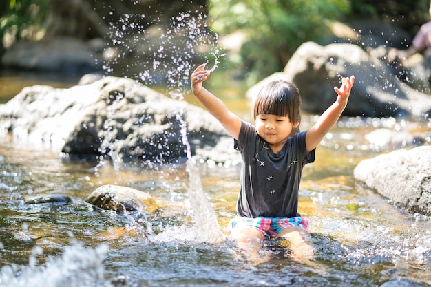
{"type": "Polygon", "coordinates": [[[117,212],[143,211],[153,214],[159,208],[156,200],[148,193],[111,184],[98,187],[88,195],[85,202],[117,212]]]}

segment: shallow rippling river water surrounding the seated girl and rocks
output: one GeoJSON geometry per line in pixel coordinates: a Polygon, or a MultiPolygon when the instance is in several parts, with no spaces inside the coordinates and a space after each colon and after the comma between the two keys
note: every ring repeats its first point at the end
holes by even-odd
{"type": "MultiPolygon", "coordinates": [[[[10,81],[27,85],[16,77],[10,81]]],[[[218,94],[249,120],[244,89],[227,86],[220,85],[218,94]]],[[[316,118],[304,115],[302,129],[316,118]]],[[[190,170],[186,164],[151,169],[123,164],[118,169],[105,162],[95,173],[98,162],[70,160],[3,133],[0,286],[381,286],[396,280],[430,286],[430,217],[395,208],[353,178],[358,162],[387,151],[366,142],[366,134],[412,126],[431,129],[392,118],[342,118],[324,138],[316,162],[304,169],[299,199],[299,213],[311,220],[311,262],[293,259],[282,240],[265,241],[259,251],[229,240],[226,226],[235,216],[239,166],[196,163],[190,170]],[[103,184],[150,193],[162,202],[160,213],[94,209],[85,198],[103,184]],[[204,231],[218,234],[211,243],[194,224],[206,214],[191,208],[191,187],[202,188],[216,215],[218,224],[204,231]],[[72,202],[25,204],[30,196],[51,193],[68,195],[72,202]]]]}

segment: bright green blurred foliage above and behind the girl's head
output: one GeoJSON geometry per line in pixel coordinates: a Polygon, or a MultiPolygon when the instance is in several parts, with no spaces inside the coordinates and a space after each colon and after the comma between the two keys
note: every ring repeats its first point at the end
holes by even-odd
{"type": "Polygon", "coordinates": [[[297,47],[319,41],[328,19],[350,13],[350,0],[210,0],[211,28],[246,36],[239,63],[257,81],[286,65],[297,47]]]}

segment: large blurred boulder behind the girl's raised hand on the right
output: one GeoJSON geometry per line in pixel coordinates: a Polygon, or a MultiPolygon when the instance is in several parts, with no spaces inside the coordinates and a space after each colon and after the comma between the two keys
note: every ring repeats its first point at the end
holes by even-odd
{"type": "MultiPolygon", "coordinates": [[[[333,87],[339,87],[340,76],[351,75],[355,75],[356,81],[344,111],[346,116],[430,117],[428,94],[401,82],[387,63],[357,45],[304,43],[288,61],[284,72],[277,73],[277,77],[296,83],[303,109],[317,114],[337,98],[333,87]]],[[[246,96],[254,98],[264,81],[257,83],[246,96]]]]}

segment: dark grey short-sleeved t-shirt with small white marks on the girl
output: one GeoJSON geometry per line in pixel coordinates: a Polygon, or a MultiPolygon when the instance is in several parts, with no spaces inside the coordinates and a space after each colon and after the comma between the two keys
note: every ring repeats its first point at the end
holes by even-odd
{"type": "Polygon", "coordinates": [[[235,149],[242,156],[241,187],[237,212],[242,217],[295,217],[299,182],[305,164],[315,161],[307,153],[306,131],[288,138],[277,154],[253,125],[242,122],[235,149]]]}

